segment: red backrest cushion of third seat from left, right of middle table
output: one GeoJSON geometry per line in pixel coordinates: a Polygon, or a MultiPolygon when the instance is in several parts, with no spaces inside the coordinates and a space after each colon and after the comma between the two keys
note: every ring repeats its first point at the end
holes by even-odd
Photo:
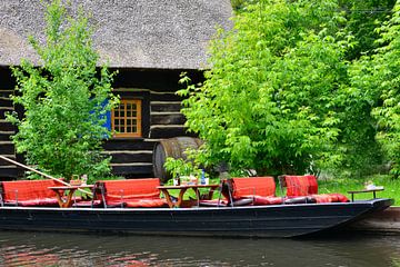
{"type": "Polygon", "coordinates": [[[243,196],[274,196],[276,184],[273,177],[232,178],[233,199],[243,196]]]}

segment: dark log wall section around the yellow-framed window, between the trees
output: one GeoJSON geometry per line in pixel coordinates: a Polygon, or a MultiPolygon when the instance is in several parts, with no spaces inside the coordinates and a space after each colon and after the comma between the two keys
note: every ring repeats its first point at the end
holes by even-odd
{"type": "MultiPolygon", "coordinates": [[[[114,175],[127,178],[153,177],[152,151],[163,138],[191,136],[186,132],[184,117],[180,112],[181,70],[119,69],[114,92],[121,99],[142,100],[142,137],[112,138],[104,144],[106,154],[112,156],[114,175]]],[[[202,80],[202,72],[188,71],[193,82],[202,80]]]]}

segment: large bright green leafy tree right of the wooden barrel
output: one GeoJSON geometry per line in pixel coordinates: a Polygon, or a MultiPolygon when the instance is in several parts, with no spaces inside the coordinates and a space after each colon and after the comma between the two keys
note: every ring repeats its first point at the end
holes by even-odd
{"type": "Polygon", "coordinates": [[[211,44],[206,82],[180,91],[206,164],[276,175],[337,160],[352,40],[338,10],[336,1],[259,1],[211,44]]]}

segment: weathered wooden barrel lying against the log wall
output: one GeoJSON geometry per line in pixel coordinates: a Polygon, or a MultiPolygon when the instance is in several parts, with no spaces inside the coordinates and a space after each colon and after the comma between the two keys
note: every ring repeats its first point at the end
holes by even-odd
{"type": "Polygon", "coordinates": [[[161,181],[168,181],[171,175],[163,167],[167,158],[187,159],[186,150],[188,148],[198,149],[202,140],[193,137],[174,137],[159,141],[153,149],[153,172],[161,181]]]}

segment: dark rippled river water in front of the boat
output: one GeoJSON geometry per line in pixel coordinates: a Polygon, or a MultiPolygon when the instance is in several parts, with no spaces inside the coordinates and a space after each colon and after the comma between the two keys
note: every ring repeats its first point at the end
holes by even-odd
{"type": "Polygon", "coordinates": [[[0,231],[0,266],[400,267],[400,236],[293,240],[0,231]]]}

